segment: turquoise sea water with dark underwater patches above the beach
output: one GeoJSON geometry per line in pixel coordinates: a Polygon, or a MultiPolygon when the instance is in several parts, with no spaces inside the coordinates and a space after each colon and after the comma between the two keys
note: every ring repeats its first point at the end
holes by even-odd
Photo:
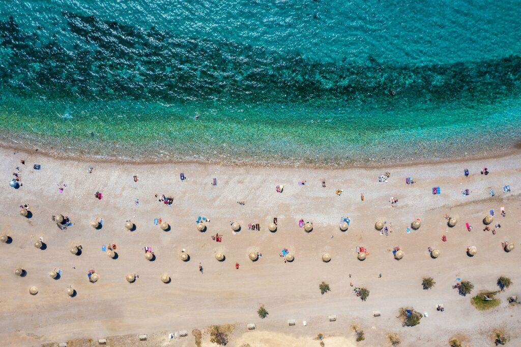
{"type": "Polygon", "coordinates": [[[521,139],[519,18],[516,1],[0,0],[0,140],[281,164],[499,153],[521,139]]]}

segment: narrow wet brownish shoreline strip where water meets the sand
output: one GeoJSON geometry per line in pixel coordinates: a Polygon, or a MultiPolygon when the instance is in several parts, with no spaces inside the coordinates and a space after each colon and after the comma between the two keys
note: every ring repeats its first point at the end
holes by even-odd
{"type": "MultiPolygon", "coordinates": [[[[15,142],[14,140],[11,140],[15,142]]],[[[82,161],[82,162],[92,162],[92,163],[106,163],[106,164],[134,164],[134,165],[153,165],[153,164],[195,164],[195,165],[219,165],[219,166],[233,166],[233,167],[257,167],[257,168],[266,168],[266,167],[276,167],[276,168],[328,168],[328,169],[348,169],[348,168],[357,168],[357,169],[373,169],[378,167],[389,167],[389,168],[401,168],[401,167],[412,167],[418,165],[436,165],[436,164],[448,164],[448,163],[456,163],[456,162],[465,162],[465,161],[474,161],[474,160],[487,160],[487,159],[501,159],[508,156],[515,156],[521,154],[521,140],[516,142],[510,148],[504,148],[503,151],[499,153],[481,153],[481,154],[473,154],[468,156],[455,156],[451,158],[439,158],[432,160],[423,160],[417,158],[404,159],[404,160],[391,160],[391,162],[384,161],[376,161],[371,162],[368,161],[364,164],[351,163],[351,164],[321,164],[321,163],[309,163],[309,162],[300,162],[296,164],[286,164],[286,163],[276,163],[276,162],[254,162],[251,160],[237,160],[237,161],[226,161],[226,160],[197,160],[197,159],[175,159],[175,158],[154,158],[154,159],[141,159],[141,158],[132,158],[132,157],[111,157],[111,156],[99,156],[92,154],[78,154],[73,151],[64,150],[63,154],[58,154],[55,150],[47,150],[47,148],[42,148],[38,146],[32,145],[23,145],[21,143],[9,143],[6,141],[0,141],[0,150],[8,150],[22,153],[38,153],[44,157],[61,159],[61,160],[73,160],[73,161],[82,161]],[[64,157],[65,156],[65,157],[64,157]],[[73,157],[73,158],[70,158],[73,157]]]]}

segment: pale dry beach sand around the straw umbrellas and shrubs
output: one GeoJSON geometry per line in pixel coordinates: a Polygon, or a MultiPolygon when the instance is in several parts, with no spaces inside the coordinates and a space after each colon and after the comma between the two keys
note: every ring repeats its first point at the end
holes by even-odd
{"type": "MultiPolygon", "coordinates": [[[[486,162],[381,169],[78,163],[6,149],[0,151],[0,161],[4,182],[0,233],[13,238],[10,244],[0,244],[1,345],[95,342],[131,334],[120,342],[114,338],[111,345],[191,346],[192,329],[204,331],[214,324],[235,325],[229,344],[233,346],[318,346],[315,338],[320,332],[326,336],[326,346],[351,346],[356,345],[352,324],[364,329],[366,340],[359,344],[364,346],[386,345],[389,332],[398,333],[403,346],[443,346],[458,333],[468,337],[469,345],[486,346],[491,345],[490,334],[497,327],[510,333],[512,345],[521,345],[521,308],[506,304],[508,295],[521,296],[519,154],[486,162]],[[18,163],[21,158],[26,165],[18,163]],[[42,169],[33,170],[33,163],[42,169]],[[91,164],[94,171],[89,174],[91,164]],[[479,174],[483,165],[490,175],[479,174]],[[21,167],[23,179],[18,190],[8,185],[16,166],[21,167]],[[463,176],[465,167],[470,169],[468,178],[463,176]],[[378,176],[387,170],[389,182],[379,183],[378,176]],[[180,172],[187,180],[180,181],[180,172]],[[133,175],[139,176],[138,183],[133,175]],[[407,176],[416,183],[406,185],[407,176]],[[214,177],[216,187],[210,184],[214,177]],[[322,178],[327,188],[321,187],[322,178]],[[299,180],[306,184],[298,185],[299,180]],[[62,183],[67,187],[59,193],[62,183]],[[284,184],[282,194],[275,191],[277,184],[284,184]],[[505,184],[511,185],[511,193],[503,193],[505,184]],[[434,186],[441,187],[441,195],[431,194],[434,186]],[[461,195],[465,188],[472,190],[469,196],[461,195]],[[495,197],[490,197],[490,188],[495,197]],[[343,194],[335,195],[336,189],[343,189],[343,194]],[[95,199],[96,191],[103,193],[101,201],[95,199]],[[173,206],[159,203],[155,193],[173,195],[173,206]],[[388,202],[390,196],[399,199],[395,207],[388,202]],[[139,206],[134,205],[135,198],[139,206]],[[238,200],[245,205],[237,204],[238,200]],[[18,206],[24,203],[31,207],[30,219],[19,215],[18,206]],[[501,206],[506,217],[499,215],[501,206]],[[482,231],[481,220],[490,208],[498,213],[493,224],[501,224],[495,235],[482,231]],[[51,220],[56,213],[69,216],[73,226],[59,230],[51,220]],[[445,213],[458,218],[456,227],[446,226],[445,213]],[[90,227],[96,216],[104,220],[101,230],[90,227]],[[197,216],[210,218],[204,233],[195,228],[197,216]],[[341,216],[351,218],[347,232],[339,230],[341,216]],[[171,230],[155,226],[155,217],[169,222],[171,230]],[[275,233],[267,230],[273,217],[278,218],[275,233]],[[406,227],[418,217],[421,228],[407,234],[406,227]],[[297,226],[300,218],[313,222],[311,233],[297,226]],[[127,219],[135,223],[135,231],[125,230],[127,219]],[[230,220],[242,226],[235,235],[230,220]],[[394,232],[380,236],[374,228],[377,220],[391,222],[394,232]],[[465,229],[466,221],[473,225],[472,232],[465,229]],[[261,231],[247,230],[248,222],[259,223],[261,231]],[[210,238],[217,232],[223,235],[222,243],[210,238]],[[441,241],[443,234],[447,242],[441,241]],[[33,246],[40,236],[46,250],[33,246]],[[504,252],[502,241],[515,243],[516,249],[504,252]],[[101,251],[108,243],[117,244],[117,259],[101,251]],[[80,256],[69,253],[74,244],[83,246],[80,256]],[[356,259],[357,245],[367,247],[364,262],[356,259]],[[405,252],[401,261],[390,252],[395,245],[405,252]],[[472,258],[465,253],[469,245],[478,247],[472,258]],[[154,262],[145,260],[144,246],[153,248],[154,262]],[[428,246],[441,251],[438,259],[429,257],[428,246]],[[282,262],[283,247],[294,253],[293,263],[282,262]],[[179,259],[183,248],[191,257],[186,263],[179,259]],[[258,262],[247,258],[252,250],[263,254],[258,262]],[[215,260],[218,251],[224,252],[226,261],[215,260]],[[321,261],[324,252],[331,254],[330,263],[321,261]],[[198,271],[200,262],[204,275],[198,271]],[[27,270],[26,277],[14,275],[18,266],[27,270]],[[48,276],[55,267],[63,270],[58,280],[48,276]],[[100,275],[97,283],[88,281],[86,272],[91,268],[100,275]],[[129,272],[139,274],[135,283],[125,280],[129,272]],[[160,281],[165,272],[172,278],[169,284],[160,281]],[[514,283],[498,295],[501,305],[490,312],[476,311],[469,296],[452,289],[456,277],[472,281],[475,292],[496,289],[500,275],[514,283]],[[435,278],[436,286],[421,289],[423,276],[435,278]],[[332,291],[321,295],[321,281],[328,282],[332,291]],[[350,282],[370,290],[366,302],[353,295],[350,282]],[[29,295],[32,285],[40,290],[35,296],[29,295]],[[78,292],[75,298],[66,294],[69,285],[78,292]],[[445,312],[436,311],[438,303],[444,304],[445,312]],[[256,314],[261,304],[269,312],[266,319],[256,314]],[[428,312],[429,317],[417,327],[402,327],[396,315],[405,305],[428,312]],[[381,317],[373,317],[374,310],[381,311],[381,317]],[[337,315],[337,321],[330,323],[328,315],[337,315]],[[288,326],[288,319],[296,319],[297,325],[288,326]],[[257,330],[246,331],[247,323],[255,323],[257,330]],[[188,330],[189,337],[167,339],[168,332],[179,330],[188,330]],[[140,333],[151,339],[138,342],[140,333]]],[[[203,345],[211,345],[205,341],[203,345]]]]}

